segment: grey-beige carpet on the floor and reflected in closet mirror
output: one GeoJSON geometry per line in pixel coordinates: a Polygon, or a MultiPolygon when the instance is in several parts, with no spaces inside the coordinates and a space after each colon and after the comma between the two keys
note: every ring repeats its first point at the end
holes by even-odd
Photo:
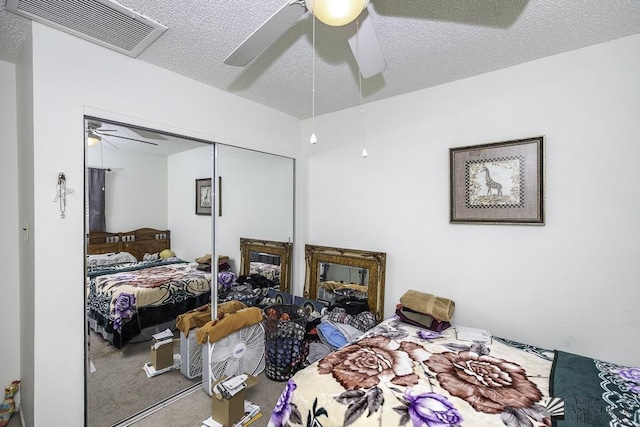
{"type": "MultiPolygon", "coordinates": [[[[149,341],[116,349],[91,331],[89,343],[95,372],[87,374],[88,427],[109,427],[140,412],[144,412],[144,418],[130,419],[122,425],[199,427],[211,416],[211,397],[198,385],[200,377],[187,379],[179,369],[147,377],[143,366],[149,362],[149,341]],[[180,395],[187,389],[191,392],[180,395]],[[171,396],[176,397],[145,412],[171,396]]],[[[174,353],[180,353],[179,341],[174,342],[174,353]]],[[[260,406],[263,414],[251,425],[264,427],[285,383],[271,381],[264,373],[258,378],[258,385],[247,390],[246,398],[260,406]]]]}

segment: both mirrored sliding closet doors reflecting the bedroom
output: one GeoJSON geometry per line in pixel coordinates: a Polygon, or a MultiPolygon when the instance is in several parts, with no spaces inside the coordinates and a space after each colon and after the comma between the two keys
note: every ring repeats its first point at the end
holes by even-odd
{"type": "Polygon", "coordinates": [[[214,289],[218,302],[236,299],[225,274],[289,289],[293,160],[93,117],[85,132],[87,425],[128,425],[202,388],[201,361],[155,371],[150,348],[169,329],[174,359],[184,356],[176,320],[214,289]],[[198,197],[202,185],[215,200],[198,197]]]}

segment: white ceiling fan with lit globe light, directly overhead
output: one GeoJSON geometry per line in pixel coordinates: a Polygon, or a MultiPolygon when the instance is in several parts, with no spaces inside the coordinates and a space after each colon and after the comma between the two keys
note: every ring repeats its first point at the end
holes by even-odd
{"type": "Polygon", "coordinates": [[[331,26],[352,28],[349,46],[362,77],[381,73],[387,66],[369,18],[369,0],[288,0],[247,37],[225,60],[227,65],[245,66],[282,36],[307,12],[331,26]]]}

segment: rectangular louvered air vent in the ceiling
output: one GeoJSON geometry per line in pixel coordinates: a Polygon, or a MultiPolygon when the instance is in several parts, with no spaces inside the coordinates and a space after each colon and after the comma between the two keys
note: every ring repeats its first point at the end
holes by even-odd
{"type": "Polygon", "coordinates": [[[133,57],[167,30],[109,0],[7,0],[7,10],[133,57]]]}

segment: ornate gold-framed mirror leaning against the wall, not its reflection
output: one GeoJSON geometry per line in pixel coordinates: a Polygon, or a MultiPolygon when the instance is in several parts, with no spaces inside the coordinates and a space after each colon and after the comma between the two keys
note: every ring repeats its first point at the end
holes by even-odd
{"type": "Polygon", "coordinates": [[[387,254],[356,249],[305,245],[305,297],[319,299],[326,284],[352,289],[366,287],[369,311],[380,322],[384,316],[384,276],[387,254]]]}

